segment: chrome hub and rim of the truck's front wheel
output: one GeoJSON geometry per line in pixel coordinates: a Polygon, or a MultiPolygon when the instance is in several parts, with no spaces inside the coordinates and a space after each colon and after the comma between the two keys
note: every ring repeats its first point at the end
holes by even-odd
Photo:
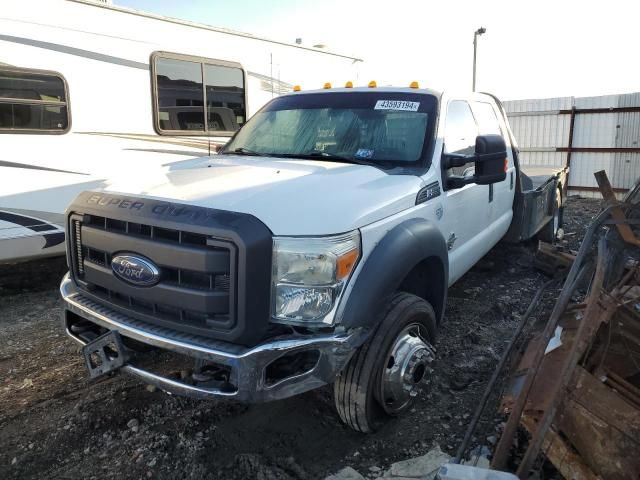
{"type": "Polygon", "coordinates": [[[418,394],[435,358],[435,349],[425,340],[421,326],[407,326],[396,338],[382,372],[381,398],[385,411],[396,414],[418,394]]]}

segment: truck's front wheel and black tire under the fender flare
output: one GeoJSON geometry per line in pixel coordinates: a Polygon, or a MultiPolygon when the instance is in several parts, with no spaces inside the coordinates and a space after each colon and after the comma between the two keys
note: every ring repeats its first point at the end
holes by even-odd
{"type": "Polygon", "coordinates": [[[342,421],[370,433],[411,407],[434,358],[436,316],[415,295],[393,295],[384,318],[334,384],[342,421]]]}

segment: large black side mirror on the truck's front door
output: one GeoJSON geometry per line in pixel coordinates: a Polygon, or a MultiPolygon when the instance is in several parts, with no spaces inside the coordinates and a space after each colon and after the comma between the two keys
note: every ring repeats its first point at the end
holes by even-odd
{"type": "Polygon", "coordinates": [[[443,158],[445,168],[461,167],[475,163],[472,177],[451,176],[447,179],[449,188],[461,188],[470,183],[490,185],[507,178],[507,145],[501,135],[478,135],[476,151],[473,155],[447,154],[443,158]]]}

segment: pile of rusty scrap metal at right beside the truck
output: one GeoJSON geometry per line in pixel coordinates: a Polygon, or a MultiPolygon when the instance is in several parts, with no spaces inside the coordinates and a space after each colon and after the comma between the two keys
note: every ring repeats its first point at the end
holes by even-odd
{"type": "Polygon", "coordinates": [[[604,172],[596,178],[605,208],[502,400],[510,416],[492,465],[505,467],[515,431],[524,427],[530,438],[517,472],[523,479],[540,453],[565,478],[640,478],[640,241],[634,231],[640,184],[617,202],[604,172]],[[581,277],[590,280],[586,300],[571,304],[581,277]],[[545,352],[558,331],[561,345],[545,352]]]}

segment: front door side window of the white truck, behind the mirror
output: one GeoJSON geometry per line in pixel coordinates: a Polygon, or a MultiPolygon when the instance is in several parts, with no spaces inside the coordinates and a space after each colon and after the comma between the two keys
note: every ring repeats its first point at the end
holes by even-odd
{"type": "MultiPolygon", "coordinates": [[[[469,104],[462,100],[453,100],[447,107],[444,127],[444,150],[446,153],[472,155],[476,148],[478,126],[473,118],[469,104]]],[[[474,163],[463,167],[450,168],[448,175],[472,175],[474,163]]]]}

